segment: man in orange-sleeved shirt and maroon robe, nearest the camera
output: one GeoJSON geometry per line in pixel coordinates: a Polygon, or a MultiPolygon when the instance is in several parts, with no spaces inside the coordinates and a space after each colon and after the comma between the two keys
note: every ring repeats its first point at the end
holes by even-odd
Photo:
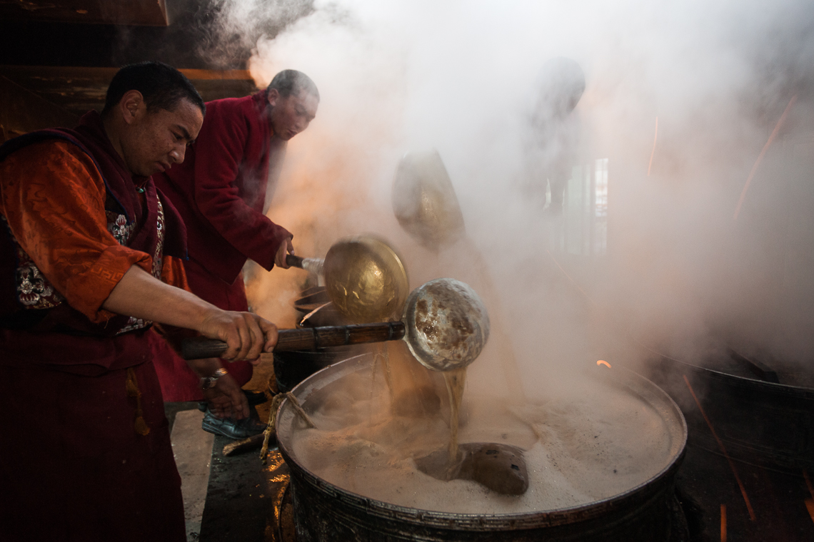
{"type": "Polygon", "coordinates": [[[101,115],[0,147],[4,541],[186,540],[151,323],[225,340],[225,358],[277,340],[183,289],[184,226],[150,176],[182,162],[204,111],[180,72],[136,64],[101,115]]]}

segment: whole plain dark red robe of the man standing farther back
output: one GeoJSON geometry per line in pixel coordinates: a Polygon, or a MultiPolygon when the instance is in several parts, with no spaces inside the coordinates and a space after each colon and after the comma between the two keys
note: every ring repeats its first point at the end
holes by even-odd
{"type": "MultiPolygon", "coordinates": [[[[265,91],[207,102],[204,125],[183,163],[154,176],[186,223],[190,289],[225,310],[247,310],[240,271],[247,258],[271,270],[279,246],[291,237],[263,214],[269,169],[279,175],[285,145],[273,135],[265,91]]],[[[165,345],[155,345],[155,367],[167,401],[203,398],[199,378],[165,345]]],[[[252,378],[248,362],[225,363],[239,385],[252,378]]]]}

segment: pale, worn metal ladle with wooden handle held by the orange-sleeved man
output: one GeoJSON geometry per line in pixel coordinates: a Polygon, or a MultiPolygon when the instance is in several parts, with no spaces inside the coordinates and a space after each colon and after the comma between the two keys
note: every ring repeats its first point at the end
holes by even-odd
{"type": "MultiPolygon", "coordinates": [[[[435,279],[410,293],[400,322],[281,329],[274,349],[302,350],[404,339],[423,366],[432,371],[451,371],[474,362],[488,336],[489,316],[475,290],[460,280],[435,279]]],[[[227,348],[222,340],[190,338],[182,341],[182,356],[215,358],[227,348]]]]}

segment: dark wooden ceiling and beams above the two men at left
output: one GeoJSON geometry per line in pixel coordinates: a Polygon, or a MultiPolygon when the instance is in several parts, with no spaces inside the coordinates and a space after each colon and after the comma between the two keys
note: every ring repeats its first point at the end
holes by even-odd
{"type": "Polygon", "coordinates": [[[180,68],[207,102],[254,93],[243,69],[252,44],[309,13],[312,0],[297,7],[234,33],[223,0],[0,0],[0,128],[13,135],[101,111],[118,68],[144,60],[180,68]]]}

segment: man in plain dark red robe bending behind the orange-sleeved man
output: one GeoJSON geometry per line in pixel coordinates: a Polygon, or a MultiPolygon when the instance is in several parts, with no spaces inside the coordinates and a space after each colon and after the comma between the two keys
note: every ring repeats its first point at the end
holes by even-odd
{"type": "MultiPolygon", "coordinates": [[[[204,125],[184,163],[154,176],[186,223],[189,260],[184,265],[190,288],[213,305],[248,310],[241,273],[247,258],[269,271],[275,265],[288,267],[293,236],[265,216],[266,192],[278,180],[287,141],[308,128],[318,104],[313,80],[295,70],[279,72],[267,89],[252,96],[208,102],[204,125]]],[[[165,345],[156,349],[164,401],[206,398],[204,429],[216,434],[244,438],[265,428],[253,409],[249,418],[237,419],[230,401],[213,390],[202,391],[199,377],[177,354],[165,345]]],[[[221,360],[211,361],[221,366],[221,360]]],[[[251,378],[247,362],[230,363],[222,377],[231,388],[251,378]]]]}

